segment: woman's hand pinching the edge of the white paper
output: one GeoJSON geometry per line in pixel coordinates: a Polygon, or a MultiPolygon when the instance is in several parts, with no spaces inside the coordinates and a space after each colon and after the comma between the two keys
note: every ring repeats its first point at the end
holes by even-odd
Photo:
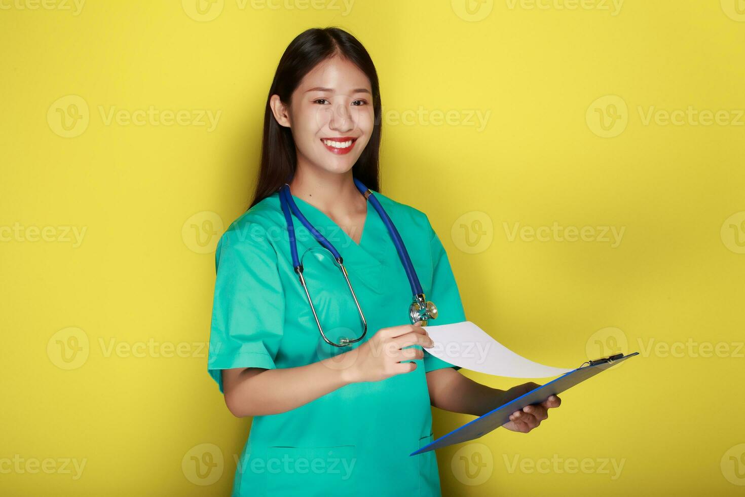
{"type": "Polygon", "coordinates": [[[379,382],[391,376],[416,370],[416,363],[402,364],[401,361],[421,359],[424,357],[424,351],[417,348],[402,349],[411,345],[427,348],[434,346],[421,323],[419,321],[416,324],[381,328],[361,346],[344,352],[344,355],[349,355],[343,361],[349,364],[345,370],[346,380],[349,383],[379,382]]]}

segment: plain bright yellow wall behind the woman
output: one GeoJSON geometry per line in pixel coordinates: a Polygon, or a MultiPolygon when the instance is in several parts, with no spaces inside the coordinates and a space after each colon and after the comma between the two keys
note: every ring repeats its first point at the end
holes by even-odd
{"type": "MultiPolygon", "coordinates": [[[[641,352],[530,434],[438,451],[443,493],[741,495],[745,5],[270,5],[1,2],[0,493],[228,495],[250,420],[206,371],[212,250],[247,207],[282,51],[338,25],[381,80],[381,190],[427,213],[469,320],[559,367],[641,352]],[[186,114],[126,120],[150,107],[186,114]],[[647,119],[689,107],[729,118],[647,119]],[[510,237],[554,221],[624,234],[510,237]]],[[[473,419],[434,418],[437,437],[473,419]]]]}

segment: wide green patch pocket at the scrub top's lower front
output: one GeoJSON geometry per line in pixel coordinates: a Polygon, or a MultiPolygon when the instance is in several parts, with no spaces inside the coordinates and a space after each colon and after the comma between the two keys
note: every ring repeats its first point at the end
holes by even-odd
{"type": "Polygon", "coordinates": [[[355,446],[267,447],[267,496],[347,496],[355,489],[355,446]]]}

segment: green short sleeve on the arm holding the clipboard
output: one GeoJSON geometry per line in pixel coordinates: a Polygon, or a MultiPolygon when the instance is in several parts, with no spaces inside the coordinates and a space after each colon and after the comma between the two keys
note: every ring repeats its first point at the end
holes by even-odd
{"type": "MultiPolygon", "coordinates": [[[[460,292],[455,282],[455,276],[450,268],[448,254],[443,247],[437,233],[434,232],[430,225],[431,239],[430,250],[432,253],[432,288],[427,300],[431,300],[437,306],[437,318],[430,321],[432,326],[440,324],[460,323],[466,320],[466,313],[463,311],[463,303],[460,301],[460,292]]],[[[431,355],[425,350],[424,369],[426,373],[439,370],[443,367],[453,367],[460,370],[459,366],[454,366],[449,362],[431,355]]]]}

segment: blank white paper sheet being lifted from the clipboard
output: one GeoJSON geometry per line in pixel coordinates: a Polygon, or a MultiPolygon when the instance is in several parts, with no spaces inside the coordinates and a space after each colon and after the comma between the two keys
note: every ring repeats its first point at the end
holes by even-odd
{"type": "Polygon", "coordinates": [[[471,321],[428,325],[425,329],[434,341],[434,346],[425,350],[466,370],[509,378],[546,378],[577,369],[530,361],[500,344],[471,321]]]}

